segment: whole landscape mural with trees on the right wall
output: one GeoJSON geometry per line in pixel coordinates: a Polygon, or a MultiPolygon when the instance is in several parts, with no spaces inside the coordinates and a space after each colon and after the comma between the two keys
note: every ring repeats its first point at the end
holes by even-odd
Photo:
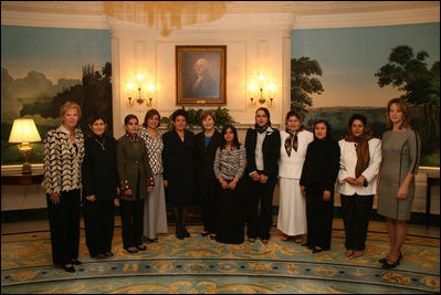
{"type": "Polygon", "coordinates": [[[294,30],[291,42],[292,108],[306,113],[305,125],[327,119],[338,139],[349,116],[361,113],[380,137],[387,102],[402,96],[413,105],[412,125],[422,139],[421,165],[440,166],[439,22],[294,30]],[[409,81],[414,75],[408,72],[424,78],[409,81]]]}

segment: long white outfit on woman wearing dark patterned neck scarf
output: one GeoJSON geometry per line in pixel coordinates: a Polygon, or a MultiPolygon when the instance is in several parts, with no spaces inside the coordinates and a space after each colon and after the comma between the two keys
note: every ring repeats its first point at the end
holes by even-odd
{"type": "Polygon", "coordinates": [[[287,155],[285,140],[290,136],[281,131],[281,157],[279,161],[280,177],[280,204],[277,229],[287,235],[306,233],[306,201],[301,194],[300,178],[302,176],[303,162],[305,161],[306,149],[314,135],[307,130],[298,133],[298,148],[287,155]]]}

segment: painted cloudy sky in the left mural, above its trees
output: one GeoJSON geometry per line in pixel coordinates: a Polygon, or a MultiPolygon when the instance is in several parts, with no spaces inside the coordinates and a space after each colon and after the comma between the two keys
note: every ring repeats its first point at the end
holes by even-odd
{"type": "Polygon", "coordinates": [[[43,73],[52,83],[59,78],[82,78],[82,65],[95,71],[112,61],[111,32],[1,25],[1,66],[14,78],[30,70],[43,73]]]}

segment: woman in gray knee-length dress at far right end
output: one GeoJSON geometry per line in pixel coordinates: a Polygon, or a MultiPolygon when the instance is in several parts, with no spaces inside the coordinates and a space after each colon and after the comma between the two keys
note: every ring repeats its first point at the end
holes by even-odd
{"type": "Polygon", "coordinates": [[[412,209],[421,140],[411,128],[410,107],[405,101],[389,101],[387,116],[390,130],[382,135],[377,212],[387,219],[390,249],[379,262],[382,268],[389,270],[396,267],[402,257],[401,246],[412,209]]]}

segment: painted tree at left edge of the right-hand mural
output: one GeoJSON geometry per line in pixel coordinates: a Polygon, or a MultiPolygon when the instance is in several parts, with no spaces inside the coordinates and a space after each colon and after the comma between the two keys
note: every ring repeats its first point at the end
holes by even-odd
{"type": "Polygon", "coordinates": [[[291,109],[306,114],[306,107],[313,105],[312,94],[322,94],[325,89],[317,77],[322,76],[322,69],[317,61],[302,56],[291,60],[291,109]]]}

